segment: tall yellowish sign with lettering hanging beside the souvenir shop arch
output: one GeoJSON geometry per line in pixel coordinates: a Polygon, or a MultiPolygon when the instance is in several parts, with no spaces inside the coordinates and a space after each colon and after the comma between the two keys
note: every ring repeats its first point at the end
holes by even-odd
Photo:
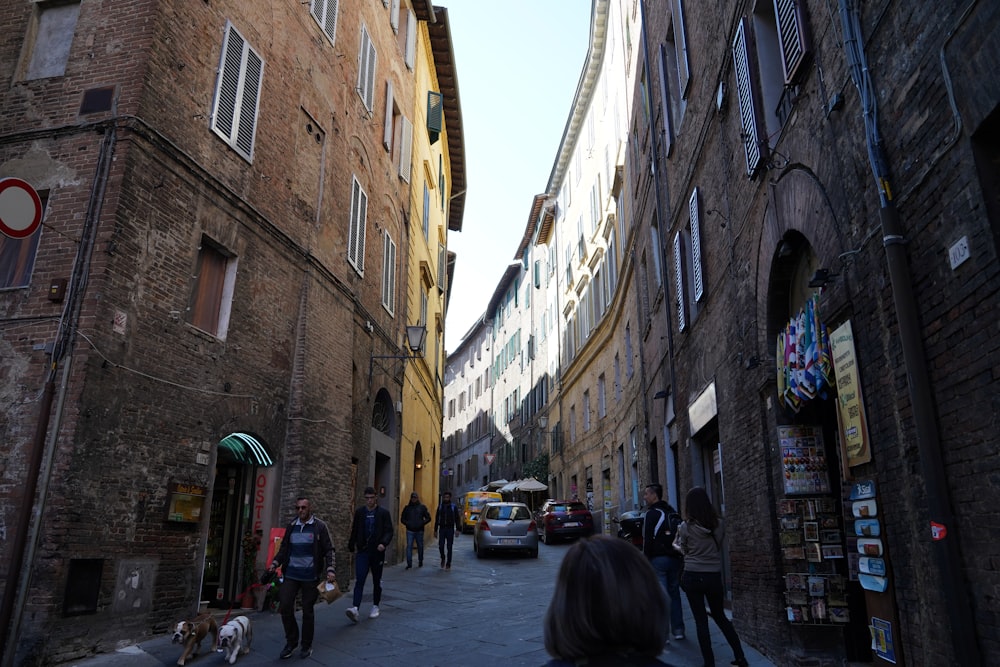
{"type": "Polygon", "coordinates": [[[857,357],[854,353],[854,332],[848,320],[830,335],[833,348],[833,371],[837,378],[837,422],[840,443],[847,467],[872,460],[868,443],[868,421],[861,396],[857,357]]]}

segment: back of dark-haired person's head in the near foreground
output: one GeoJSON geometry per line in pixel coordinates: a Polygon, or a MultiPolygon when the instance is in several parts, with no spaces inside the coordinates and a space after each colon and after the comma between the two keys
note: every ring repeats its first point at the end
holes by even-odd
{"type": "Polygon", "coordinates": [[[623,540],[595,535],[569,548],[545,613],[546,667],[653,667],[670,614],[649,561],[623,540]]]}

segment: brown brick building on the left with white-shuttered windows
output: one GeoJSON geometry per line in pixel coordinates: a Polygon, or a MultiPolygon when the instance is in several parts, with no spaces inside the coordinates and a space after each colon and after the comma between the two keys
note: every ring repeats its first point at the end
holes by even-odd
{"type": "Polygon", "coordinates": [[[369,365],[405,349],[407,302],[383,304],[407,293],[411,155],[383,119],[425,103],[433,7],[0,17],[0,175],[44,206],[39,232],[0,240],[3,651],[52,664],[228,607],[302,493],[349,578],[359,489],[398,480],[392,379],[369,365]]]}

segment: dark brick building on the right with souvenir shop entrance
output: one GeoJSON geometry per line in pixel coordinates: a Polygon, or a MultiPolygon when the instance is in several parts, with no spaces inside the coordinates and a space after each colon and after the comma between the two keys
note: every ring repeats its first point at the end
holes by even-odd
{"type": "Polygon", "coordinates": [[[988,664],[1000,11],[835,4],[643,3],[652,430],[776,663],[988,664]]]}

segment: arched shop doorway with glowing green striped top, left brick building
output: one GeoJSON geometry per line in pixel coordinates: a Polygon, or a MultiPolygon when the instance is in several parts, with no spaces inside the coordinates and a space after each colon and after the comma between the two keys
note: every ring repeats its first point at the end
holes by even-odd
{"type": "Polygon", "coordinates": [[[201,599],[210,606],[238,603],[256,578],[263,536],[254,528],[254,509],[264,500],[256,491],[266,484],[263,469],[274,461],[267,445],[249,433],[230,433],[219,441],[201,586],[201,599]]]}

